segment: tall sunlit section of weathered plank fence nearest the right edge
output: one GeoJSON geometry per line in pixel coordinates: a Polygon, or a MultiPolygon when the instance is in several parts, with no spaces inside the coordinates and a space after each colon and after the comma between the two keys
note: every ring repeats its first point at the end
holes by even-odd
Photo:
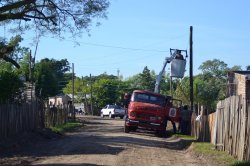
{"type": "Polygon", "coordinates": [[[217,104],[212,143],[239,160],[250,160],[249,102],[232,96],[217,104]]]}

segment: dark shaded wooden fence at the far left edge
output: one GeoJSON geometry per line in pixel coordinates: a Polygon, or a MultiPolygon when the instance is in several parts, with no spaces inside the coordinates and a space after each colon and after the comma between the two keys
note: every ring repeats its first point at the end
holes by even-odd
{"type": "Polygon", "coordinates": [[[0,105],[0,140],[38,127],[44,127],[43,104],[41,102],[0,105]]]}

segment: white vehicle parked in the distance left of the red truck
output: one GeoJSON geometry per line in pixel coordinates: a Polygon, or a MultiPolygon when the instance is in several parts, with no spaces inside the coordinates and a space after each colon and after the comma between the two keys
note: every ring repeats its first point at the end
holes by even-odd
{"type": "Polygon", "coordinates": [[[104,116],[109,116],[109,118],[120,117],[123,119],[126,110],[118,105],[106,105],[101,109],[100,115],[103,118],[104,116]]]}

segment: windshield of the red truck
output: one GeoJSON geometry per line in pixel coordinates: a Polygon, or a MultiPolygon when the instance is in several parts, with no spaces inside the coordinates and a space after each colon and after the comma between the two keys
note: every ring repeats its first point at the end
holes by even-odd
{"type": "Polygon", "coordinates": [[[131,101],[151,103],[164,107],[166,99],[164,97],[154,96],[151,94],[134,93],[133,96],[131,97],[131,101]]]}

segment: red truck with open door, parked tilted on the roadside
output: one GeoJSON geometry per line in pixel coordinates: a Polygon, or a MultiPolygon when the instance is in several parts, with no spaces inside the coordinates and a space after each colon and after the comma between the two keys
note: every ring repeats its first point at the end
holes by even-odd
{"type": "MultiPolygon", "coordinates": [[[[132,93],[125,119],[124,132],[138,128],[153,130],[159,136],[166,135],[167,121],[179,121],[179,110],[173,107],[173,99],[158,93],[135,90],[132,93]]],[[[175,127],[175,126],[174,126],[175,127]]]]}

